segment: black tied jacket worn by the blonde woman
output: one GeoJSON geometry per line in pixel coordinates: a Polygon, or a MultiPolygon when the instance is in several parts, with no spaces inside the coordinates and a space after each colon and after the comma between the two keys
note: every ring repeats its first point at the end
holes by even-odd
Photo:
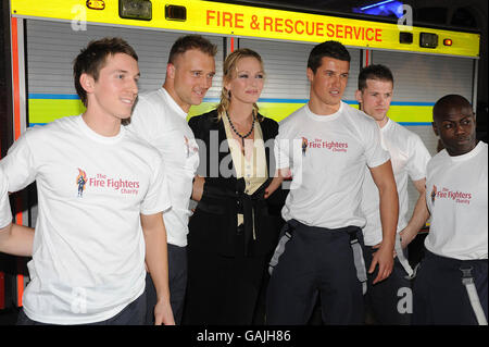
{"type": "Polygon", "coordinates": [[[226,131],[223,121],[217,122],[216,115],[217,112],[213,110],[189,121],[199,142],[199,169],[205,168],[204,173],[199,171],[205,176],[205,184],[202,199],[189,221],[188,247],[229,257],[267,255],[277,244],[283,224],[280,210],[285,201],[281,189],[277,189],[268,199],[263,198],[264,189],[275,173],[273,139],[278,134],[278,123],[266,117],[260,122],[269,178],[252,196],[248,196],[243,193],[244,179],[236,178],[226,131]],[[220,170],[222,164],[227,165],[228,172],[233,173],[230,177],[223,176],[223,170],[220,170]],[[239,228],[238,211],[244,215],[244,225],[239,228]]]}

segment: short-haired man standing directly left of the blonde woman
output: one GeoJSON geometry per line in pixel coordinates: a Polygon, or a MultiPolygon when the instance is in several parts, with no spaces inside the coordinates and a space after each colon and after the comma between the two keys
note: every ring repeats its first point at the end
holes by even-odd
{"type": "MultiPolygon", "coordinates": [[[[130,127],[153,145],[165,163],[172,210],[163,218],[167,230],[170,293],[175,322],[181,322],[187,285],[187,234],[192,179],[199,165],[199,147],[187,124],[192,104],[200,104],[215,74],[215,45],[200,35],[183,36],[170,51],[163,87],[139,96],[130,127]]],[[[164,193],[162,193],[164,194],[164,193]]],[[[156,301],[147,276],[147,324],[152,324],[156,301]]]]}

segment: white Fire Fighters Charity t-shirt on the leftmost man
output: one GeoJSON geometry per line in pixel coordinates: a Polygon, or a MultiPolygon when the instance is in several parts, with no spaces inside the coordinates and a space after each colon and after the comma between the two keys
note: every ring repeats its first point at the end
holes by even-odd
{"type": "Polygon", "coordinates": [[[101,136],[78,115],[27,129],[0,164],[10,191],[37,183],[27,317],[52,324],[104,321],[143,293],[140,213],[171,206],[154,148],[124,126],[114,137],[101,136]]]}

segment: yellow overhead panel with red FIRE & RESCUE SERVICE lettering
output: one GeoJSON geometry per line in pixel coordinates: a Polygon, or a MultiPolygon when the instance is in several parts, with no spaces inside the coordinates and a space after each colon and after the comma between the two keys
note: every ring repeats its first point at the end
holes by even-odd
{"type": "Polygon", "coordinates": [[[152,20],[125,20],[118,16],[118,1],[105,0],[104,10],[90,10],[83,0],[12,0],[12,14],[38,16],[65,21],[86,18],[91,23],[127,25],[136,27],[212,33],[226,36],[256,37],[266,39],[322,42],[334,39],[343,45],[363,48],[379,48],[424,53],[479,57],[480,35],[411,27],[413,44],[399,44],[400,30],[409,30],[397,24],[333,17],[256,7],[235,5],[198,0],[174,0],[171,3],[187,9],[187,21],[167,21],[164,17],[164,1],[152,1],[152,20]],[[437,34],[436,49],[419,47],[419,33],[437,34]],[[453,41],[443,46],[443,39],[453,41]]]}

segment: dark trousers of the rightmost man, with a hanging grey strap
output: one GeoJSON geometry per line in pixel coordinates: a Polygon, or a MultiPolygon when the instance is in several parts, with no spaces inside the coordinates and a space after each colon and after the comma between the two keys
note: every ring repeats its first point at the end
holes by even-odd
{"type": "Polygon", "coordinates": [[[472,267],[475,286],[488,313],[488,260],[444,258],[425,249],[413,287],[413,324],[476,325],[461,267],[472,267]]]}

